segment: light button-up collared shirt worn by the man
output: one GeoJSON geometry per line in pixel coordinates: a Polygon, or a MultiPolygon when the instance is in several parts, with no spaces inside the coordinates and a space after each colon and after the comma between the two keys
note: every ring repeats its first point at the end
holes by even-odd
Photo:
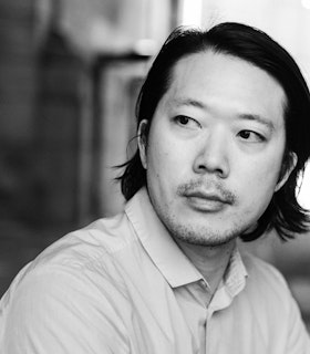
{"type": "Polygon", "coordinates": [[[125,212],[72,232],[14,279],[1,354],[309,354],[283,278],[237,250],[209,302],[206,280],[143,188],[125,212]]]}

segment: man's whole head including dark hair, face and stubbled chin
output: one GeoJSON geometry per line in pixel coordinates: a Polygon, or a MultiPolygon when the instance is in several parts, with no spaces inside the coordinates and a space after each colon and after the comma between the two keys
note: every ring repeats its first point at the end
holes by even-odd
{"type": "Polygon", "coordinates": [[[172,232],[174,223],[177,232],[202,235],[210,232],[204,223],[214,225],[214,235],[225,223],[245,240],[270,227],[283,238],[301,232],[307,216],[296,186],[310,155],[309,114],[298,66],[265,33],[237,23],[178,29],[142,87],[140,153],[122,191],[130,199],[147,185],[172,232]]]}

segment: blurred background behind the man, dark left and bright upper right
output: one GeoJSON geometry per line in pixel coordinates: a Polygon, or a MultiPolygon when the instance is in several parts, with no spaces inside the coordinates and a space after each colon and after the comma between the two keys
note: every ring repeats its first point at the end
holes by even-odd
{"type": "MultiPolygon", "coordinates": [[[[112,167],[135,148],[152,56],[176,25],[226,20],[267,31],[309,82],[309,0],[0,1],[0,295],[52,241],[121,210],[112,167]]],[[[310,326],[310,235],[245,248],[283,272],[310,326]]]]}

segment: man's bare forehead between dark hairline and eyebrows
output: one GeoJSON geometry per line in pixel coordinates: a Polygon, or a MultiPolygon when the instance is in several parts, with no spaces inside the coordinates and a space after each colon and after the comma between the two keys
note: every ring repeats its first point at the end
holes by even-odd
{"type": "Polygon", "coordinates": [[[210,50],[175,64],[169,87],[159,103],[187,98],[225,105],[231,112],[280,116],[282,122],[287,101],[282,86],[269,73],[237,56],[210,50]]]}

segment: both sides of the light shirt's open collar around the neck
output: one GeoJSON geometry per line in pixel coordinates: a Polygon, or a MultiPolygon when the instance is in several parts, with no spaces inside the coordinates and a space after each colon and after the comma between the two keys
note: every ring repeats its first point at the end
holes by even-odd
{"type": "MultiPolygon", "coordinates": [[[[145,187],[140,189],[126,204],[125,212],[143,247],[172,288],[204,279],[157,217],[145,187]]],[[[242,290],[246,273],[236,248],[224,279],[232,296],[242,290]]]]}

